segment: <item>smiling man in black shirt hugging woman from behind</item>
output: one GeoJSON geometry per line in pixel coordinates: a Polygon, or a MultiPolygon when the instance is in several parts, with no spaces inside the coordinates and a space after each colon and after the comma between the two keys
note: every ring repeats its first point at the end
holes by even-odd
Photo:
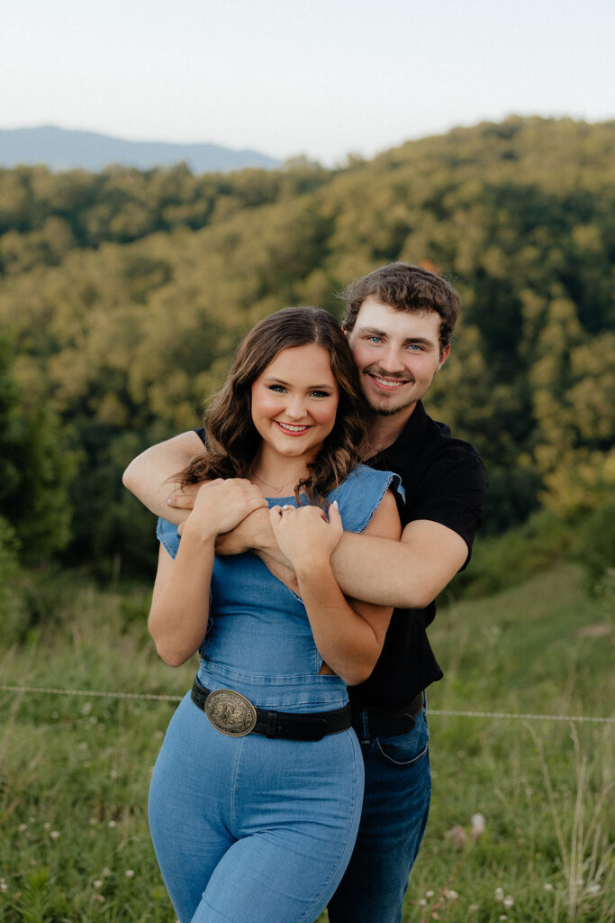
{"type": "MultiPolygon", "coordinates": [[[[421,398],[443,366],[459,309],[440,276],[392,263],[352,282],[342,319],[371,409],[364,462],[401,477],[400,542],[345,533],[332,558],[344,593],[397,606],[372,676],[349,689],[365,762],[361,827],[349,869],[329,905],[331,923],[399,923],[431,797],[424,690],[443,674],[426,634],[434,598],[466,567],[483,508],[479,455],[425,413],[421,398]]],[[[140,455],[124,484],[176,523],[192,497],[171,498],[165,479],[202,450],[183,433],[140,455]]],[[[207,489],[207,487],[205,488],[207,489]]],[[[288,579],[268,523],[257,510],[222,542],[246,550],[288,579]]]]}

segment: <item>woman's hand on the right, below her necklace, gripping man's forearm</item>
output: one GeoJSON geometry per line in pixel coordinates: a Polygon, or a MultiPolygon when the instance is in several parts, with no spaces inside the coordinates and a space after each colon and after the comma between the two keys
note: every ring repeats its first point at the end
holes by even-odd
{"type": "Polygon", "coordinates": [[[319,507],[273,507],[271,528],[279,548],[299,573],[314,564],[328,563],[343,534],[342,519],[334,502],[329,520],[319,507]]]}

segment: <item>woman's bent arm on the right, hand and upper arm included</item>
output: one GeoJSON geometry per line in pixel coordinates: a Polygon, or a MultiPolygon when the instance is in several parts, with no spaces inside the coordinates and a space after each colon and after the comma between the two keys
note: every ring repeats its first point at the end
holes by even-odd
{"type": "MultiPolygon", "coordinates": [[[[355,686],[370,676],[384,644],[392,607],[347,600],[331,569],[331,555],[342,535],[337,506],[324,521],[317,507],[271,510],[271,524],[284,555],[297,574],[319,653],[337,676],[355,686]]],[[[365,532],[398,539],[396,501],[387,491],[365,532]]]]}

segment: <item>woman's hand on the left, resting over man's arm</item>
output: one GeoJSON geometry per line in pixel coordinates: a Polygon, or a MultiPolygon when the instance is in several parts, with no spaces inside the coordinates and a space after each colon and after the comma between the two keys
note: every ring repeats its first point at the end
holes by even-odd
{"type": "Polygon", "coordinates": [[[197,533],[202,539],[215,539],[231,532],[254,509],[266,506],[261,490],[247,479],[217,478],[202,485],[196,494],[195,505],[183,524],[183,535],[197,533]]]}

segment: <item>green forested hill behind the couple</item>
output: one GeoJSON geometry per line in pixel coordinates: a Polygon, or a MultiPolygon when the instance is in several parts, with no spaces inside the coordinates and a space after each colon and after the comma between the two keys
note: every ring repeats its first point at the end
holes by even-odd
{"type": "Polygon", "coordinates": [[[541,505],[568,522],[605,509],[614,148],[612,122],[511,118],[336,171],[0,171],[0,511],[24,556],[68,542],[71,561],[141,566],[151,524],[125,463],[195,426],[255,320],[338,315],[336,292],[394,259],[462,295],[427,403],[487,462],[487,533],[541,505]]]}

